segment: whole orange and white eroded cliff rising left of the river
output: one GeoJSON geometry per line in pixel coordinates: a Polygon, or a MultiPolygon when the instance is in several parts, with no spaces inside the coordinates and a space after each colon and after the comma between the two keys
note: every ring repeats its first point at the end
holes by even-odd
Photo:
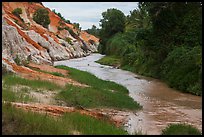
{"type": "Polygon", "coordinates": [[[16,59],[21,64],[29,60],[37,64],[52,65],[53,61],[87,56],[97,51],[98,44],[98,38],[65,23],[40,3],[2,3],[2,67],[6,70],[13,71],[9,64],[16,64],[16,59]],[[12,14],[16,8],[22,9],[20,17],[12,14]],[[33,14],[39,8],[49,12],[48,28],[33,20],[33,14]]]}

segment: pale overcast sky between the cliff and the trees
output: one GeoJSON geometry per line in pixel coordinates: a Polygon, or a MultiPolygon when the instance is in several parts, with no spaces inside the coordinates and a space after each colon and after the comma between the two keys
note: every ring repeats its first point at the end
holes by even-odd
{"type": "Polygon", "coordinates": [[[43,2],[45,7],[61,13],[65,19],[72,23],[77,22],[82,29],[99,27],[101,13],[108,8],[121,10],[125,15],[137,8],[138,2],[43,2]]]}

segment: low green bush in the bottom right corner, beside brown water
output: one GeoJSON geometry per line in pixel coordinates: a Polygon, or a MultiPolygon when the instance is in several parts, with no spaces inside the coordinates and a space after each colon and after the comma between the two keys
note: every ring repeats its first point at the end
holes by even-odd
{"type": "Polygon", "coordinates": [[[170,124],[162,130],[162,135],[201,135],[201,132],[187,124],[170,124]]]}

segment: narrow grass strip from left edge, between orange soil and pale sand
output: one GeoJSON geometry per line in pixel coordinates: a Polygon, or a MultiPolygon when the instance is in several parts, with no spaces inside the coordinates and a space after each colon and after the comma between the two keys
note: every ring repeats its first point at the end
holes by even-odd
{"type": "Polygon", "coordinates": [[[19,84],[19,85],[29,86],[33,89],[38,89],[38,88],[45,88],[48,90],[62,89],[62,87],[58,86],[55,83],[49,82],[49,81],[29,80],[29,79],[21,78],[17,75],[4,75],[3,81],[4,81],[4,84],[8,86],[19,84]]]}

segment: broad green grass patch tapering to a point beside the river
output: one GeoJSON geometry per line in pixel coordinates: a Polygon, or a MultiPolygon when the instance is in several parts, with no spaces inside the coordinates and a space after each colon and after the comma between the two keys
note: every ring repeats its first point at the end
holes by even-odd
{"type": "Polygon", "coordinates": [[[141,106],[134,102],[132,98],[123,93],[115,93],[96,88],[79,88],[72,85],[68,85],[65,90],[61,91],[57,98],[65,101],[68,106],[76,107],[108,107],[130,110],[141,108],[141,106]]]}

